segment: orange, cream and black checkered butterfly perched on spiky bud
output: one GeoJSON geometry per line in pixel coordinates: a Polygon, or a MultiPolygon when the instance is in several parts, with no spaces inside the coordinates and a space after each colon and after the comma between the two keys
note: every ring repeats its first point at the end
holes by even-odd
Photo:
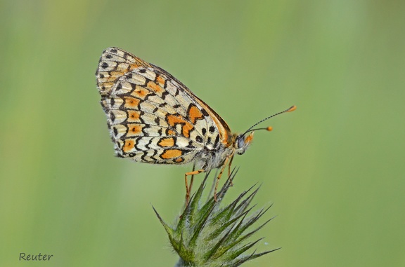
{"type": "Polygon", "coordinates": [[[220,177],[235,153],[248,149],[258,130],[252,128],[272,117],[233,134],[186,85],[120,48],[103,51],[96,79],[117,156],[143,163],[195,163],[199,169],[185,174],[187,197],[188,175],[221,167],[220,177]]]}

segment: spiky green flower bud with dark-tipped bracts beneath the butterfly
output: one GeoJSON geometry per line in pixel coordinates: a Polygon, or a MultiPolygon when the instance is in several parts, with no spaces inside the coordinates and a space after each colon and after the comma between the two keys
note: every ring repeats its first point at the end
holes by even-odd
{"type": "Polygon", "coordinates": [[[246,261],[277,250],[247,253],[248,249],[262,240],[259,238],[254,242],[247,242],[248,238],[273,219],[271,218],[254,230],[248,231],[248,228],[255,224],[264,212],[269,210],[267,207],[252,212],[252,207],[249,207],[259,188],[250,193],[255,187],[252,186],[229,205],[221,207],[221,200],[224,199],[235,174],[236,172],[231,173],[221,191],[218,192],[217,202],[214,197],[211,197],[203,203],[201,198],[209,173],[206,174],[198,191],[191,197],[184,212],[176,219],[174,226],[165,223],[153,208],[165,227],[167,235],[169,235],[174,251],[180,256],[176,267],[240,266],[246,261]]]}

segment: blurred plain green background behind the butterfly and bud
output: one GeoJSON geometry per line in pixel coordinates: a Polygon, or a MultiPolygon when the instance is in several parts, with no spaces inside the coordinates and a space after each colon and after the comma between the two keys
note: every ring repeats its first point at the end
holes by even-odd
{"type": "Polygon", "coordinates": [[[405,266],[405,2],[0,1],[0,266],[174,266],[186,166],[115,158],[94,72],[124,48],[257,132],[230,194],[277,215],[246,266],[405,266]]]}

